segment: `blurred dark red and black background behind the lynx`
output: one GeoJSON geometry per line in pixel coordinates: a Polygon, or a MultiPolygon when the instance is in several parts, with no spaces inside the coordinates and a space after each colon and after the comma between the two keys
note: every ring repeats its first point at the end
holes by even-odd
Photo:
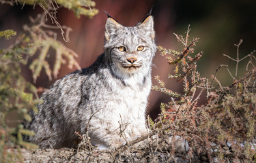
{"type": "MultiPolygon", "coordinates": [[[[61,35],[58,35],[58,40],[79,54],[77,60],[81,67],[89,67],[103,53],[104,24],[107,18],[104,11],[121,24],[134,26],[147,16],[152,6],[154,6],[152,15],[154,16],[158,46],[181,51],[181,44],[176,41],[173,33],[186,35],[185,32],[190,24],[190,39],[193,37],[200,38],[195,47],[195,53],[203,51],[203,57],[197,64],[203,77],[211,79],[211,75],[221,64],[229,65],[231,73],[234,73],[236,62],[227,59],[223,54],[236,58],[236,46],[234,44],[238,43],[240,39],[244,40],[240,46],[240,58],[256,50],[255,0],[95,0],[95,2],[99,13],[91,19],[85,16],[78,19],[72,11],[64,8],[57,12],[59,24],[72,28],[68,43],[63,41],[61,35]]],[[[34,9],[33,6],[29,5],[25,5],[23,9],[21,7],[22,5],[0,5],[0,31],[13,29],[20,33],[23,31],[23,25],[29,23],[28,16],[35,18],[38,13],[43,12],[39,6],[35,6],[34,9]]],[[[59,33],[58,30],[56,32],[59,33]]],[[[0,39],[0,49],[7,48],[14,42],[14,39],[15,37],[9,41],[0,39]]],[[[53,55],[49,55],[48,60],[51,58],[55,58],[54,52],[53,55]]],[[[29,58],[29,60],[31,62],[33,58],[29,58]]],[[[246,61],[240,63],[238,76],[244,75],[246,61]]],[[[164,56],[160,56],[160,52],[157,52],[154,58],[154,65],[156,67],[153,67],[152,72],[153,84],[157,84],[154,76],[159,75],[165,81],[167,88],[182,92],[180,84],[167,79],[167,75],[172,73],[173,67],[167,64],[164,56]]],[[[63,65],[58,79],[74,70],[75,68],[68,69],[66,65],[63,65]]],[[[23,75],[28,81],[33,82],[29,67],[23,67],[23,75]]],[[[229,85],[231,82],[231,77],[225,69],[219,72],[217,77],[223,86],[229,85]]],[[[48,88],[55,80],[49,81],[46,74],[42,72],[35,86],[48,88]]],[[[201,100],[203,103],[204,99],[201,100]]],[[[160,103],[167,101],[170,101],[169,96],[152,90],[148,113],[153,118],[156,117],[160,113],[160,103]]]]}

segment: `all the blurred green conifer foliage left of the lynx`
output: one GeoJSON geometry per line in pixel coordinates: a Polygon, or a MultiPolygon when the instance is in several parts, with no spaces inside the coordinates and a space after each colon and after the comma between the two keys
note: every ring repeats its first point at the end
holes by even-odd
{"type": "MultiPolygon", "coordinates": [[[[12,1],[0,0],[0,2],[14,5],[12,1]]],[[[38,145],[23,141],[23,134],[31,136],[34,133],[25,130],[20,124],[20,120],[31,121],[28,111],[32,109],[34,113],[38,113],[36,105],[41,101],[38,98],[37,88],[27,82],[20,74],[20,66],[27,65],[29,63],[28,58],[33,58],[29,68],[32,71],[34,82],[40,76],[42,69],[49,79],[52,79],[52,75],[57,77],[61,65],[66,62],[68,62],[70,69],[73,66],[81,69],[75,60],[77,54],[66,48],[61,41],[58,41],[57,33],[52,30],[59,28],[63,39],[68,40],[68,33],[71,29],[61,26],[55,15],[61,5],[72,10],[78,18],[80,16],[92,18],[98,13],[98,10],[92,8],[95,6],[94,1],[89,0],[20,0],[17,2],[23,5],[40,5],[44,13],[38,14],[35,19],[31,18],[31,24],[23,26],[23,33],[15,38],[14,43],[6,49],[0,50],[0,162],[14,162],[14,160],[23,162],[23,156],[20,152],[12,152],[13,147],[17,151],[20,151],[20,147],[38,147],[38,145]],[[47,16],[51,18],[53,26],[46,25],[47,16]],[[64,30],[66,30],[65,37],[64,30]],[[55,51],[53,69],[46,60],[46,56],[52,55],[49,51],[51,49],[55,51]],[[14,113],[18,114],[17,117],[10,118],[10,116],[15,115],[14,113]]],[[[0,31],[0,38],[10,39],[14,35],[16,35],[16,31],[0,31]]]]}

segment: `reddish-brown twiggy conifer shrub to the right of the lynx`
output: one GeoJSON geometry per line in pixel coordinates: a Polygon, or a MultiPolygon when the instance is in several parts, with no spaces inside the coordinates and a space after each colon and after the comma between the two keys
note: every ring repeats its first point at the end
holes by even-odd
{"type": "Polygon", "coordinates": [[[231,74],[227,65],[216,69],[212,82],[200,77],[196,70],[197,60],[202,52],[193,55],[195,42],[188,43],[186,37],[175,35],[182,42],[182,52],[158,47],[162,56],[167,56],[169,65],[173,65],[173,73],[169,79],[177,79],[183,83],[183,92],[177,93],[165,88],[165,83],[156,77],[159,86],[154,90],[171,96],[169,103],[162,103],[161,115],[156,122],[149,120],[152,129],[169,126],[167,130],[180,135],[190,143],[187,158],[197,162],[255,162],[256,135],[256,57],[251,52],[244,58],[239,58],[239,47],[242,40],[235,45],[236,59],[226,56],[236,62],[236,73],[231,74]],[[184,39],[185,38],[185,39],[184,39]],[[238,79],[238,65],[249,58],[244,76],[238,79]],[[217,74],[224,67],[232,77],[230,86],[222,86],[217,74]],[[202,94],[205,91],[206,96],[202,94]],[[206,99],[205,104],[197,105],[199,98],[206,99]]]}

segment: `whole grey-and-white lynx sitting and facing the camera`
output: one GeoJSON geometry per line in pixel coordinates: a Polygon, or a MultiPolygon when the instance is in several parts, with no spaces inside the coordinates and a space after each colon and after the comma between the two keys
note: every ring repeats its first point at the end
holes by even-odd
{"type": "Polygon", "coordinates": [[[44,92],[39,113],[30,111],[31,122],[24,122],[35,132],[25,141],[42,149],[75,147],[74,132],[84,134],[88,129],[91,143],[104,148],[147,133],[145,109],[156,53],[153,17],[126,27],[109,16],[105,27],[104,54],[44,92]]]}

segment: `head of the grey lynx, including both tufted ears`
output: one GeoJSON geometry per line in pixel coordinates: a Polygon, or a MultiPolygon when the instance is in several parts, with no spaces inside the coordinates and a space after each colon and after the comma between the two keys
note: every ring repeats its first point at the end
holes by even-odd
{"type": "Polygon", "coordinates": [[[109,16],[105,28],[104,49],[113,73],[123,78],[148,75],[156,53],[153,16],[137,26],[123,26],[109,16]]]}

